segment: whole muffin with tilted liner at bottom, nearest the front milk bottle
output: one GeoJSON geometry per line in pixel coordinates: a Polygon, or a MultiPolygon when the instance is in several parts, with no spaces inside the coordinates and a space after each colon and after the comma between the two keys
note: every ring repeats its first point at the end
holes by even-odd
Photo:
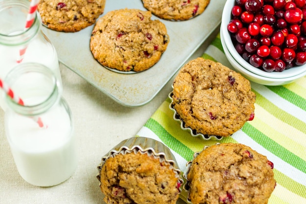
{"type": "Polygon", "coordinates": [[[158,150],[168,147],[145,137],[123,142],[98,166],[97,178],[104,201],[107,204],[175,204],[183,181],[175,168],[176,161],[169,160],[173,156],[168,150],[158,150]],[[153,148],[147,145],[148,140],[153,148]],[[131,146],[126,145],[131,142],[131,146]]]}

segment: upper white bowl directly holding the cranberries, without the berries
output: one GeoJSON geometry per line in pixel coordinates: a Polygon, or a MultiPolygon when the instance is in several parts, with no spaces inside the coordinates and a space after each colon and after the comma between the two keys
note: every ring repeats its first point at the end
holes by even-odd
{"type": "Polygon", "coordinates": [[[227,49],[231,53],[231,55],[234,57],[234,59],[245,69],[248,71],[253,72],[254,74],[263,76],[263,77],[268,77],[268,78],[276,78],[276,79],[283,79],[283,78],[288,78],[288,77],[293,77],[293,76],[303,76],[301,75],[302,73],[305,75],[306,74],[306,65],[303,66],[296,66],[290,69],[285,69],[282,72],[266,72],[262,69],[255,68],[252,65],[250,65],[248,62],[246,62],[240,54],[237,52],[235,49],[230,34],[227,31],[227,24],[231,20],[231,11],[232,7],[235,5],[236,0],[227,0],[224,8],[223,8],[223,13],[222,13],[222,23],[221,23],[221,28],[222,28],[222,34],[223,38],[225,41],[225,44],[227,46],[227,49]]]}

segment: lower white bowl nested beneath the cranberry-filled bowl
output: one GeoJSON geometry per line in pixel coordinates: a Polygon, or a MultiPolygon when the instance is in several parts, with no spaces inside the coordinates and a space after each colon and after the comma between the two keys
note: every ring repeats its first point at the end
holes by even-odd
{"type": "Polygon", "coordinates": [[[220,29],[220,38],[221,38],[221,44],[224,50],[224,53],[226,55],[226,58],[228,59],[229,63],[233,66],[233,68],[235,69],[235,71],[239,72],[242,76],[244,76],[245,78],[247,78],[250,81],[256,82],[258,84],[262,84],[262,85],[267,85],[267,86],[280,86],[280,85],[285,85],[285,84],[290,84],[292,82],[294,82],[295,80],[303,77],[306,75],[306,71],[295,75],[295,76],[291,76],[291,77],[286,77],[286,78],[269,78],[269,77],[264,77],[264,76],[260,76],[257,75],[247,69],[245,69],[244,67],[242,67],[235,59],[234,57],[231,55],[229,49],[227,48],[226,44],[225,44],[225,39],[223,37],[223,32],[222,32],[222,28],[220,29]]]}

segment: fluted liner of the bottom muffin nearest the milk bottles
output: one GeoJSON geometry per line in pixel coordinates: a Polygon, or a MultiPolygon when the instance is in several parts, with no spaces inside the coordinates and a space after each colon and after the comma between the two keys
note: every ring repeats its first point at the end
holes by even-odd
{"type": "Polygon", "coordinates": [[[177,181],[180,183],[180,187],[178,188],[179,193],[182,191],[181,186],[183,185],[183,179],[181,178],[181,170],[177,167],[178,165],[174,155],[166,145],[148,137],[131,137],[129,139],[125,139],[113,147],[113,149],[110,150],[104,157],[102,157],[102,161],[97,167],[99,171],[97,179],[99,180],[100,185],[101,169],[107,159],[113,158],[119,154],[125,155],[132,152],[135,154],[147,154],[148,156],[153,155],[153,157],[155,159],[159,159],[160,162],[164,161],[167,165],[169,165],[169,168],[173,170],[177,181]]]}

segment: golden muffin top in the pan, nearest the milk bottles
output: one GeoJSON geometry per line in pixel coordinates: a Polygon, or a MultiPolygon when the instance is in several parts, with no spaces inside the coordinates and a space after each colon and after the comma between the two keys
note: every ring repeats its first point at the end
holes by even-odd
{"type": "Polygon", "coordinates": [[[105,0],[40,0],[38,11],[50,29],[77,32],[96,22],[103,14],[105,0]]]}

